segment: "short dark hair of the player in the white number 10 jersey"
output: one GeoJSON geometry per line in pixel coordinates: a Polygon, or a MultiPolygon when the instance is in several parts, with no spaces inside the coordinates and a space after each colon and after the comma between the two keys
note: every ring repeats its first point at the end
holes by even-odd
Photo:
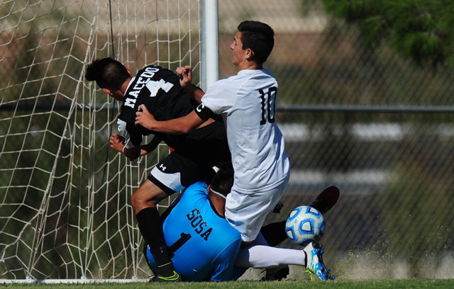
{"type": "Polygon", "coordinates": [[[275,45],[275,31],[259,21],[243,21],[238,25],[238,31],[241,33],[243,49],[253,50],[255,62],[267,61],[275,45]]]}

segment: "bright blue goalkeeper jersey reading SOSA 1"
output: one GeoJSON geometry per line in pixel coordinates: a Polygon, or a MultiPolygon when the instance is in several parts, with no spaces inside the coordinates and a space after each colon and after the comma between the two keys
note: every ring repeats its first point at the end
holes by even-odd
{"type": "MultiPolygon", "coordinates": [[[[240,233],[218,215],[207,196],[207,184],[194,183],[184,191],[163,224],[175,270],[187,281],[231,280],[240,247],[240,233]]],[[[156,268],[150,249],[146,257],[156,268]]]]}

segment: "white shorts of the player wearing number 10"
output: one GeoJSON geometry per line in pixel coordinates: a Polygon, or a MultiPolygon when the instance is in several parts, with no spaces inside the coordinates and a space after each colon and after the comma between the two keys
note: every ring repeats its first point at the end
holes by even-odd
{"type": "Polygon", "coordinates": [[[255,240],[267,215],[274,210],[289,183],[287,179],[267,191],[239,193],[232,188],[226,200],[226,220],[238,230],[243,242],[255,240]]]}

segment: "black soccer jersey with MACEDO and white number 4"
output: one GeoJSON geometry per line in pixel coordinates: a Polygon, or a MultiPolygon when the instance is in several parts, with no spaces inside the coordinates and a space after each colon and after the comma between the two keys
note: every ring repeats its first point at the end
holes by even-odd
{"type": "Polygon", "coordinates": [[[179,84],[177,74],[169,69],[149,65],[140,70],[128,86],[118,116],[118,130],[125,136],[126,147],[136,147],[143,135],[154,134],[175,152],[200,162],[228,162],[226,128],[216,121],[187,135],[170,135],[135,126],[135,113],[144,104],[156,120],[171,120],[189,114],[197,103],[179,84]]]}

